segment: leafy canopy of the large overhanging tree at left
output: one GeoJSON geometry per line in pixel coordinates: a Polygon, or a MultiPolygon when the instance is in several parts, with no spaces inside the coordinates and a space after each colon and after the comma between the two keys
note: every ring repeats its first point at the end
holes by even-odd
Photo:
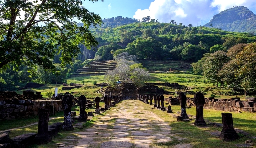
{"type": "Polygon", "coordinates": [[[87,48],[97,45],[88,28],[102,23],[80,0],[1,1],[0,19],[0,69],[8,63],[55,69],[50,59],[56,53],[61,53],[62,65],[71,63],[80,43],[87,48]]]}

